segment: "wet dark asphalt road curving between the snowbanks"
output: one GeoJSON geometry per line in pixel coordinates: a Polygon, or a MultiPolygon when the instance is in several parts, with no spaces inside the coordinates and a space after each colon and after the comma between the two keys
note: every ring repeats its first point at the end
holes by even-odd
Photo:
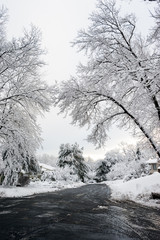
{"type": "Polygon", "coordinates": [[[160,239],[160,209],[110,200],[104,184],[0,199],[1,240],[160,239]]]}

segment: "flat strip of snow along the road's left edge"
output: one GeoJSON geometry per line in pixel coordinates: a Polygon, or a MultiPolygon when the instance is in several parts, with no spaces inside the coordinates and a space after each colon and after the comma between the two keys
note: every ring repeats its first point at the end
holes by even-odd
{"type": "Polygon", "coordinates": [[[31,182],[25,187],[0,187],[0,197],[25,197],[37,193],[54,192],[66,188],[75,188],[84,185],[82,182],[31,182]]]}

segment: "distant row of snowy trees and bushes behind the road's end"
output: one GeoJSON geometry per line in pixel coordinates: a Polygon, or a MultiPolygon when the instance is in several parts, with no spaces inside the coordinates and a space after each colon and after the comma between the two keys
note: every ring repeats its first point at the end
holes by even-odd
{"type": "MultiPolygon", "coordinates": [[[[121,150],[106,153],[102,160],[85,160],[83,149],[75,144],[61,144],[53,172],[43,173],[41,180],[95,183],[108,180],[139,178],[150,173],[146,164],[152,153],[137,146],[123,146],[121,150]]],[[[47,159],[46,159],[47,161],[47,159]]],[[[46,163],[46,162],[44,162],[46,163]]]]}

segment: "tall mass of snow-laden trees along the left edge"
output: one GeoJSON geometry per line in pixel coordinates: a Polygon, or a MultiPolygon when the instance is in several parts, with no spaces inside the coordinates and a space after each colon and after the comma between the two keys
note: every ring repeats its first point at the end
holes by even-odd
{"type": "Polygon", "coordinates": [[[37,114],[48,111],[52,88],[40,77],[44,65],[40,32],[34,26],[8,41],[7,11],[0,9],[0,153],[5,165],[4,184],[15,185],[19,171],[29,172],[40,144],[37,114]],[[31,164],[32,162],[32,164],[31,164]],[[14,176],[13,176],[14,175],[14,176]]]}

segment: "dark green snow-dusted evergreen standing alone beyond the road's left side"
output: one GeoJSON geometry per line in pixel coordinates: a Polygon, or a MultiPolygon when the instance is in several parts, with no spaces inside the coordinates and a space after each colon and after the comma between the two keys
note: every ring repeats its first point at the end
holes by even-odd
{"type": "Polygon", "coordinates": [[[58,166],[65,168],[70,167],[71,174],[77,174],[79,179],[84,182],[87,173],[87,167],[84,162],[83,149],[79,148],[77,143],[62,144],[60,146],[58,166]]]}

